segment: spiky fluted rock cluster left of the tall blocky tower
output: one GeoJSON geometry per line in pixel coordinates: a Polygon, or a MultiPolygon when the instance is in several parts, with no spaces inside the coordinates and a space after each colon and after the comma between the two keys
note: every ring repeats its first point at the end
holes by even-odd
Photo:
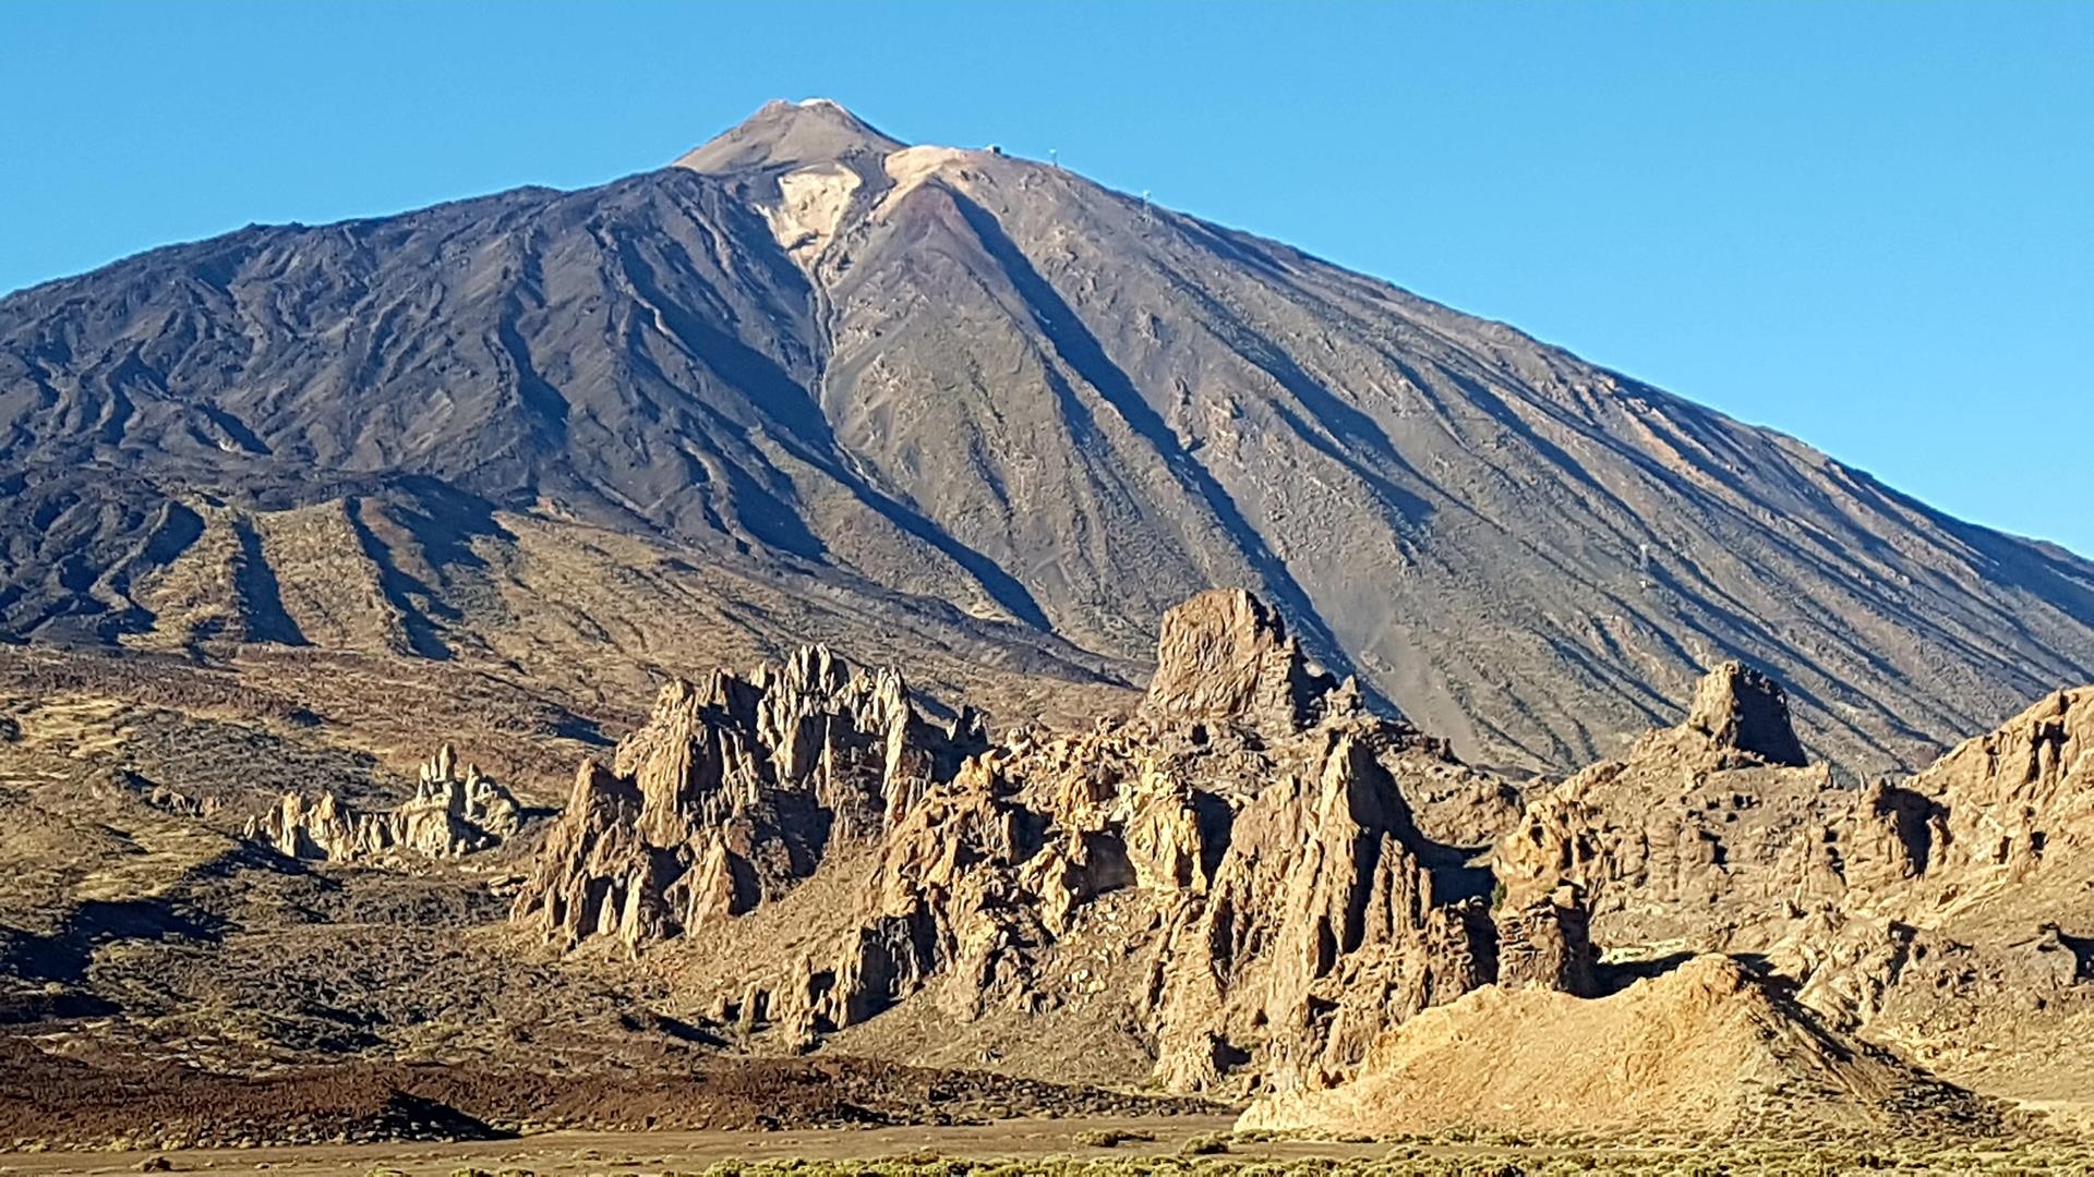
{"type": "Polygon", "coordinates": [[[972,712],[934,725],[898,674],[825,647],[672,681],[611,764],[582,762],[515,917],[563,947],[701,930],[792,888],[831,840],[896,827],[980,743],[972,712]]]}

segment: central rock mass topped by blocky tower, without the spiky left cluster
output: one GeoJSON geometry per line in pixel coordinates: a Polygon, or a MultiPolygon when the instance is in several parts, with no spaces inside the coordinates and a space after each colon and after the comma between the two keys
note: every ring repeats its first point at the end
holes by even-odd
{"type": "MultiPolygon", "coordinates": [[[[905,777],[877,785],[909,800],[888,804],[838,932],[756,984],[731,978],[718,1016],[806,1045],[911,1001],[972,1024],[1104,997],[1164,1085],[1221,1091],[1332,1083],[1386,1026],[1493,976],[1489,880],[1420,829],[1405,792],[1501,785],[1315,672],[1248,593],[1164,618],[1135,714],[1020,729],[951,777],[905,777]],[[1076,942],[1124,968],[1072,963],[1076,942]]],[[[584,769],[574,810],[645,827],[622,817],[649,804],[628,779],[584,769]]],[[[553,861],[588,842],[557,836],[553,861]]],[[[676,924],[645,886],[586,894],[637,905],[586,928],[676,924]]]]}

